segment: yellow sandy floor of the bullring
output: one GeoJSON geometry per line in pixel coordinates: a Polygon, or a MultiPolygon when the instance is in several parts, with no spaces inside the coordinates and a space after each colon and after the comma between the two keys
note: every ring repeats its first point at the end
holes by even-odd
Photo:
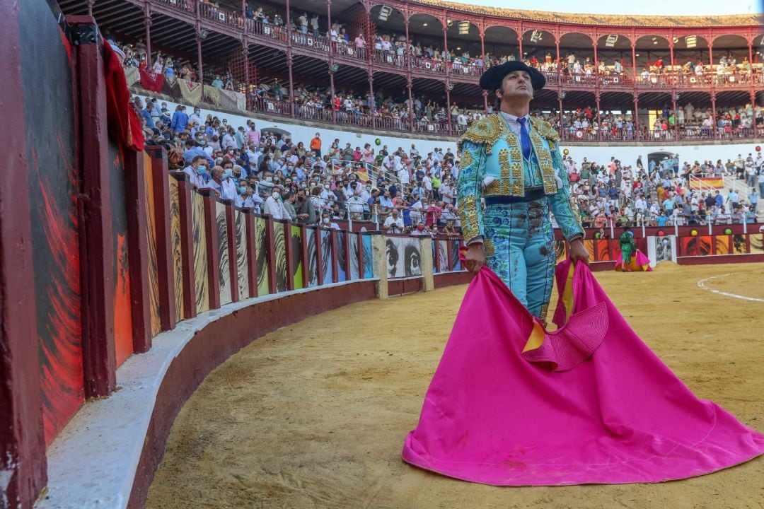
{"type": "MultiPolygon", "coordinates": [[[[764,264],[598,272],[640,337],[701,398],[764,431],[764,264]],[[713,276],[714,279],[707,279],[713,276]]],[[[742,509],[764,459],[658,485],[494,488],[400,459],[466,286],[368,301],[232,356],[177,418],[147,507],[742,509]]],[[[252,324],[257,327],[257,324],[252,324]]]]}

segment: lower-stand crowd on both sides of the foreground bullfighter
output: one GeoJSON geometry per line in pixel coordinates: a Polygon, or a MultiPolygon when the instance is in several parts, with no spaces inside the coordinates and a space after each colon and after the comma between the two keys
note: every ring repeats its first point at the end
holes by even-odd
{"type": "MultiPolygon", "coordinates": [[[[450,150],[423,154],[414,143],[407,150],[343,146],[318,133],[312,140],[292,140],[261,133],[254,121],[233,126],[211,114],[202,118],[199,108],[191,112],[179,105],[170,112],[156,98],[136,97],[134,107],[150,143],[170,150],[172,169],[236,205],[306,224],[349,219],[372,221],[390,233],[459,231],[458,158],[450,150]]],[[[691,105],[684,112],[685,122],[696,118],[691,105]]],[[[606,163],[566,156],[564,164],[581,219],[591,227],[753,222],[764,192],[761,153],[726,163],[680,163],[668,156],[646,162],[640,156],[627,165],[616,156],[606,163]],[[718,190],[691,189],[693,176],[734,176],[749,192],[732,190],[723,197],[718,190]]]]}

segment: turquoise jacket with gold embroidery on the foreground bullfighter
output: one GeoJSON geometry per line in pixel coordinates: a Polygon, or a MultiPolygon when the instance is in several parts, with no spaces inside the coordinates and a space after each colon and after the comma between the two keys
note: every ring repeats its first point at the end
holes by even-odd
{"type": "Polygon", "coordinates": [[[559,134],[548,122],[531,118],[532,154],[523,160],[519,137],[500,113],[473,124],[458,149],[457,206],[465,240],[484,234],[481,198],[523,196],[526,188],[543,187],[549,208],[565,238],[583,237],[581,214],[571,197],[568,172],[562,166],[559,134]]]}

